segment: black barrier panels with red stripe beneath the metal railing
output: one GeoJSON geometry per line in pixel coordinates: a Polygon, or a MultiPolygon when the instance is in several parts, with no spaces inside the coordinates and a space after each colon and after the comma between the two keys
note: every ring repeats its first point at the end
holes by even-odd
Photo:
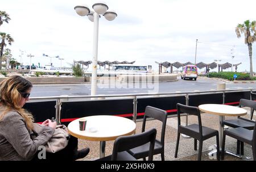
{"type": "MultiPolygon", "coordinates": [[[[250,99],[250,92],[230,92],[225,93],[225,104],[238,105],[241,98],[250,99]]],[[[154,97],[137,99],[137,119],[143,118],[146,106],[166,110],[168,115],[176,114],[176,104],[185,105],[185,96],[176,97],[154,97]]],[[[201,104],[222,104],[223,93],[199,94],[189,96],[189,106],[199,106],[201,104]]],[[[35,118],[35,122],[43,122],[56,115],[56,101],[30,102],[24,108],[30,111],[35,118]]],[[[60,119],[62,124],[68,124],[76,118],[90,115],[119,115],[121,117],[133,118],[133,99],[124,100],[97,100],[62,102],[60,119]]]]}

